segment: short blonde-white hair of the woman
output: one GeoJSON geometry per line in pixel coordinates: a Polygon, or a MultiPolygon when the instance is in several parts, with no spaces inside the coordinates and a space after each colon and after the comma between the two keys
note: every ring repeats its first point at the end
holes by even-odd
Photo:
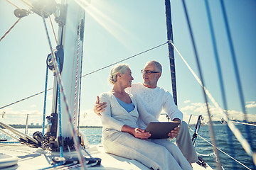
{"type": "Polygon", "coordinates": [[[117,64],[112,67],[109,77],[110,84],[115,84],[115,82],[117,82],[117,73],[124,74],[127,72],[127,69],[129,69],[128,64],[117,64]]]}

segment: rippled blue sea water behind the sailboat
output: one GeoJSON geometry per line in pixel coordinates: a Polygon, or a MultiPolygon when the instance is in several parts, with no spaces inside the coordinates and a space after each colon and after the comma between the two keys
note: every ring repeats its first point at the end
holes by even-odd
{"type": "MultiPolygon", "coordinates": [[[[247,128],[245,128],[245,125],[236,125],[236,127],[240,130],[242,135],[247,138],[247,128]]],[[[220,162],[224,169],[256,169],[254,164],[252,163],[251,157],[247,155],[245,150],[242,148],[242,145],[240,145],[240,142],[235,139],[235,136],[232,132],[228,133],[227,131],[227,125],[214,125],[214,132],[215,132],[215,139],[217,143],[218,149],[220,149],[222,152],[218,150],[218,154],[220,157],[220,162]],[[230,134],[230,135],[228,135],[230,134]],[[230,145],[231,143],[231,145],[230,145]],[[233,144],[233,145],[232,145],[233,144]],[[225,152],[225,154],[223,153],[225,152]],[[233,157],[238,162],[234,161],[232,158],[227,156],[226,154],[230,155],[230,157],[233,157]],[[243,164],[244,166],[242,166],[243,164]]],[[[194,127],[191,127],[193,130],[194,127]]],[[[23,132],[23,129],[20,129],[21,132],[23,132]]],[[[33,132],[37,131],[38,129],[30,129],[28,130],[28,135],[32,135],[33,132]]],[[[81,128],[80,129],[86,136],[87,140],[90,142],[90,144],[99,144],[101,142],[101,133],[102,128],[81,128]]],[[[250,137],[252,141],[252,147],[254,151],[256,151],[256,127],[255,126],[249,126],[250,130],[250,137]]],[[[41,130],[40,130],[41,131],[41,130]]],[[[191,131],[191,136],[193,135],[193,132],[191,131]]],[[[210,140],[210,133],[208,130],[208,125],[201,126],[198,135],[203,137],[198,137],[198,140],[196,142],[196,152],[198,152],[199,156],[201,156],[213,169],[216,169],[216,163],[215,163],[215,155],[213,154],[213,147],[208,142],[212,143],[210,140]],[[207,140],[208,142],[206,142],[207,140]]],[[[0,132],[0,139],[9,139],[9,137],[6,137],[6,135],[2,134],[0,132]]]]}

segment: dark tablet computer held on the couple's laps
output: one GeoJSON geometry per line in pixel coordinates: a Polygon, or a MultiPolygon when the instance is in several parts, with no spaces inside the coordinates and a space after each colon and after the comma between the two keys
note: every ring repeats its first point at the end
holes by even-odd
{"type": "Polygon", "coordinates": [[[145,132],[150,132],[149,140],[169,138],[168,133],[174,130],[179,122],[151,122],[147,125],[145,132]]]}

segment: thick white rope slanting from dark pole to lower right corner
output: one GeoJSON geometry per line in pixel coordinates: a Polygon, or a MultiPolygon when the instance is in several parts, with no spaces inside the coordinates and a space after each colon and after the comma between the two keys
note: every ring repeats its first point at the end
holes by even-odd
{"type": "MultiPolygon", "coordinates": [[[[171,42],[171,45],[174,45],[171,42]]],[[[191,69],[191,67],[189,66],[188,62],[186,62],[186,60],[183,58],[183,56],[181,55],[181,53],[177,50],[177,48],[174,45],[174,48],[176,50],[176,52],[178,52],[178,55],[181,57],[181,59],[183,60],[183,62],[186,64],[186,66],[188,67],[188,69],[191,71],[191,73],[193,74],[193,76],[195,77],[195,79],[198,81],[198,83],[202,85],[201,80],[197,77],[196,73],[193,72],[193,69],[191,69]]],[[[221,113],[223,113],[223,109],[220,108],[220,106],[218,105],[218,103],[215,101],[215,99],[213,98],[213,96],[210,94],[210,92],[208,91],[208,89],[206,89],[206,87],[204,87],[206,94],[208,96],[208,98],[210,98],[210,101],[213,102],[213,105],[219,109],[219,111],[221,113]]],[[[241,132],[238,130],[238,128],[235,127],[235,125],[233,124],[232,121],[229,120],[229,118],[227,117],[227,115],[223,114],[223,116],[225,117],[225,120],[227,120],[228,122],[228,127],[230,128],[230,130],[233,132],[233,134],[235,135],[235,137],[237,138],[237,140],[240,142],[240,144],[242,145],[243,149],[245,149],[245,152],[247,152],[247,154],[249,156],[251,156],[253,158],[253,154],[255,155],[255,152],[252,152],[252,148],[250,147],[249,143],[247,142],[247,140],[245,140],[245,138],[242,136],[241,132]]],[[[256,157],[256,156],[255,156],[256,157]]]]}

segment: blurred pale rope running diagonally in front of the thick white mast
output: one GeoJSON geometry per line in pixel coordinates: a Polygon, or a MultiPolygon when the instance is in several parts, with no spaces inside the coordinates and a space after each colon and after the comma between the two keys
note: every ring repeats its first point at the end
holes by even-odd
{"type": "Polygon", "coordinates": [[[73,141],[74,141],[74,144],[75,144],[75,150],[78,152],[78,159],[79,159],[80,164],[81,164],[81,169],[85,169],[85,159],[82,157],[82,153],[80,152],[80,149],[79,149],[80,144],[78,142],[78,137],[75,135],[75,128],[74,128],[73,123],[72,123],[70,108],[69,108],[68,101],[67,101],[67,98],[66,98],[65,90],[63,88],[63,81],[62,81],[61,76],[60,76],[60,71],[58,69],[58,63],[56,61],[55,53],[53,52],[53,47],[50,43],[50,37],[49,37],[48,29],[47,29],[47,26],[46,26],[46,20],[45,20],[45,17],[44,17],[44,14],[43,14],[42,11],[41,11],[41,14],[42,14],[42,18],[43,18],[43,24],[46,28],[46,36],[47,36],[47,39],[48,39],[50,52],[51,52],[51,55],[53,56],[53,66],[54,66],[54,69],[55,69],[55,72],[56,72],[56,78],[57,78],[58,84],[60,86],[60,92],[61,92],[61,94],[63,94],[63,101],[65,103],[66,111],[68,112],[68,117],[69,117],[68,123],[71,126],[70,131],[72,132],[73,141]]]}

